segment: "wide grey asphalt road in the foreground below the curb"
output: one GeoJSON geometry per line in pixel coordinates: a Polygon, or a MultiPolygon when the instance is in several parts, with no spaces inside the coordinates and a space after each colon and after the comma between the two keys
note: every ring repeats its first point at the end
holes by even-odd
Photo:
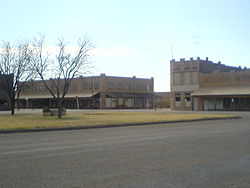
{"type": "Polygon", "coordinates": [[[250,187],[243,119],[0,134],[0,187],[250,187]]]}

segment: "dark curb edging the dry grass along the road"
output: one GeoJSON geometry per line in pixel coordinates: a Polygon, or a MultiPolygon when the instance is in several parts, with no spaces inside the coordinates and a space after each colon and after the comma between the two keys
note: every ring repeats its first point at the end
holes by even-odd
{"type": "Polygon", "coordinates": [[[29,132],[49,132],[49,131],[67,131],[67,130],[83,130],[83,129],[99,129],[111,127],[128,127],[128,126],[143,126],[143,125],[156,125],[156,124],[169,124],[169,123],[183,123],[195,121],[211,121],[211,120],[226,120],[226,119],[241,119],[241,116],[228,117],[228,118],[211,118],[211,119],[195,119],[195,120],[178,120],[178,121],[158,121],[158,122],[144,122],[144,123],[124,123],[113,125],[95,125],[95,126],[74,126],[74,127],[54,127],[54,128],[34,128],[34,129],[13,129],[13,130],[0,130],[0,134],[7,133],[29,133],[29,132]]]}

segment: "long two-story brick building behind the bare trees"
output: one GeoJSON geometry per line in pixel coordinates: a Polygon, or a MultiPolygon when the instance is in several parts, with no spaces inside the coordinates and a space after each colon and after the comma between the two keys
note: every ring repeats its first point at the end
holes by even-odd
{"type": "MultiPolygon", "coordinates": [[[[49,80],[47,80],[49,82],[49,80]]],[[[134,109],[153,108],[154,79],[100,76],[72,80],[65,96],[68,109],[134,109]]],[[[21,108],[56,107],[42,81],[31,81],[20,93],[21,108]]]]}

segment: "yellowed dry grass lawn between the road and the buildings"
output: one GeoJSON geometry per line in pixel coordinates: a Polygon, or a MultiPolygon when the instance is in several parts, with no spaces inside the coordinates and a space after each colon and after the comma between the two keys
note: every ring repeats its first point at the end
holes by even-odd
{"type": "Polygon", "coordinates": [[[34,129],[76,126],[100,126],[150,122],[200,120],[211,118],[233,118],[233,115],[173,114],[153,112],[70,112],[62,119],[42,116],[42,113],[0,115],[0,130],[34,129]]]}

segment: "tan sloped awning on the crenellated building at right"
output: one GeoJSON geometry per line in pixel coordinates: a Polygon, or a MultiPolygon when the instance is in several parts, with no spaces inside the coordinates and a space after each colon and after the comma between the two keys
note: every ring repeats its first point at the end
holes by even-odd
{"type": "Polygon", "coordinates": [[[204,87],[200,88],[191,96],[250,96],[250,86],[232,87],[204,87]]]}

